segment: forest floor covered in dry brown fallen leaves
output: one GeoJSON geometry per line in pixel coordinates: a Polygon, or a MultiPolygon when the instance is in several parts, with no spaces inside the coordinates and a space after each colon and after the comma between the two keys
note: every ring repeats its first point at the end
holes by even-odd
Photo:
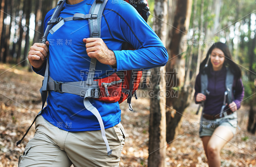
{"type": "MultiPolygon", "coordinates": [[[[29,139],[33,137],[33,126],[18,147],[16,142],[32,123],[41,108],[39,89],[42,76],[28,69],[0,63],[0,167],[17,166],[29,139]]],[[[255,98],[255,97],[253,97],[255,98]]],[[[122,124],[126,132],[122,150],[121,167],[146,167],[148,159],[149,100],[132,100],[134,112],[129,111],[126,102],[120,105],[122,124]]],[[[196,104],[192,103],[183,113],[175,140],[167,145],[167,166],[207,167],[207,159],[200,138],[199,115],[196,104]]],[[[256,136],[246,131],[248,107],[238,111],[235,137],[221,150],[223,167],[255,167],[256,136]]],[[[168,132],[167,132],[168,133],[168,132]]]]}

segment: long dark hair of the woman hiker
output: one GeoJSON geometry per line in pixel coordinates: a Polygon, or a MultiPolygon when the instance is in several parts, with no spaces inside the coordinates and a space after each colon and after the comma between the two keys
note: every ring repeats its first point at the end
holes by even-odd
{"type": "Polygon", "coordinates": [[[228,67],[231,72],[235,75],[236,78],[241,78],[242,73],[241,69],[238,67],[238,65],[233,61],[232,55],[228,49],[228,46],[222,42],[216,42],[214,43],[208,50],[205,59],[200,64],[200,72],[206,73],[207,75],[210,75],[210,70],[212,69],[212,63],[210,60],[210,55],[212,54],[212,50],[214,48],[220,49],[224,55],[225,55],[225,61],[223,63],[224,67],[228,67]],[[206,64],[207,63],[207,64],[206,64]]]}

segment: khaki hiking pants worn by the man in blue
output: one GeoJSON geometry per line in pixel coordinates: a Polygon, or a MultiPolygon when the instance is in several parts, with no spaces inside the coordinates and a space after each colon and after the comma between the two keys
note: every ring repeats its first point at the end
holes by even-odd
{"type": "Polygon", "coordinates": [[[112,154],[108,156],[101,131],[68,132],[43,116],[36,118],[36,132],[19,158],[19,167],[118,167],[125,132],[121,123],[105,129],[112,154]]]}

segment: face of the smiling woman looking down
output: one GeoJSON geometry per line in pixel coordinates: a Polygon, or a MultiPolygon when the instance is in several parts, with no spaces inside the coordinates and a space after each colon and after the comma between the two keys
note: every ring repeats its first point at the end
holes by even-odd
{"type": "Polygon", "coordinates": [[[211,53],[211,63],[213,70],[219,71],[223,67],[224,60],[224,53],[219,48],[214,48],[211,53]]]}

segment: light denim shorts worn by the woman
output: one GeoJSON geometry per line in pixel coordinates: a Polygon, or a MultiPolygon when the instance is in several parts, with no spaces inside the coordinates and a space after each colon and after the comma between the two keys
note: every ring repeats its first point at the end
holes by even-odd
{"type": "Polygon", "coordinates": [[[202,117],[200,120],[199,136],[212,136],[214,130],[219,126],[227,127],[233,134],[235,134],[237,127],[237,113],[234,112],[230,115],[215,120],[207,120],[202,117]]]}

